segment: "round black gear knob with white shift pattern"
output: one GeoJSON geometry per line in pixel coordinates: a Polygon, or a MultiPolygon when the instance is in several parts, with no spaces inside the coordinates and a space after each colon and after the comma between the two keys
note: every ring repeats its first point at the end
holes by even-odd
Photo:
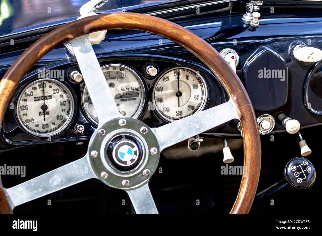
{"type": "Polygon", "coordinates": [[[285,166],[285,179],[297,189],[310,187],[316,177],[315,168],[312,163],[303,157],[290,160],[285,166]]]}

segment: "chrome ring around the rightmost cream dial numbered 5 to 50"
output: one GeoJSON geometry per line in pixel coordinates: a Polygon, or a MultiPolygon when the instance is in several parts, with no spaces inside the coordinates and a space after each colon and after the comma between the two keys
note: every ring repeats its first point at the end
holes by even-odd
{"type": "Polygon", "coordinates": [[[191,115],[193,115],[193,114],[195,114],[195,113],[198,113],[198,112],[202,111],[202,110],[205,108],[206,103],[207,103],[207,100],[208,100],[208,86],[207,86],[207,84],[206,84],[206,81],[204,80],[204,77],[199,73],[199,76],[198,76],[198,77],[196,76],[196,77],[200,80],[200,82],[201,82],[201,83],[202,83],[202,85],[203,85],[204,100],[202,101],[202,104],[199,106],[199,108],[198,108],[195,112],[193,112],[193,113],[191,113],[190,115],[185,116],[185,117],[181,117],[181,118],[178,118],[178,119],[171,119],[171,118],[166,117],[166,116],[165,116],[165,115],[164,115],[164,114],[163,114],[163,113],[162,113],[162,112],[157,108],[156,101],[155,101],[155,89],[156,89],[156,86],[157,86],[158,82],[159,82],[159,81],[160,81],[160,79],[163,77],[163,75],[165,75],[166,73],[168,73],[168,72],[170,72],[170,71],[172,71],[172,70],[180,70],[180,69],[189,70],[189,71],[193,72],[195,75],[197,75],[197,74],[198,74],[196,70],[194,70],[194,69],[192,69],[192,68],[190,68],[190,67],[185,67],[185,66],[172,67],[172,68],[167,69],[167,70],[163,71],[162,73],[160,73],[159,77],[156,79],[155,84],[154,84],[154,86],[153,86],[153,91],[152,91],[152,101],[153,101],[154,107],[156,108],[155,110],[156,110],[157,114],[158,114],[160,117],[162,117],[164,120],[169,121],[169,122],[173,122],[173,121],[176,121],[176,120],[179,120],[179,119],[182,119],[182,118],[185,118],[185,117],[191,116],[191,115]]]}

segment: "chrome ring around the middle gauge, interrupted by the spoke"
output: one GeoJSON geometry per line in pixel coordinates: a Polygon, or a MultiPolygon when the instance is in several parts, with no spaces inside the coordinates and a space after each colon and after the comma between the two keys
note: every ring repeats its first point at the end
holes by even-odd
{"type": "MultiPolygon", "coordinates": [[[[141,88],[142,88],[142,96],[141,96],[141,101],[140,101],[140,107],[137,109],[137,111],[134,113],[134,115],[131,117],[131,118],[138,118],[141,114],[142,114],[142,111],[143,111],[143,108],[144,108],[144,105],[145,105],[145,100],[146,100],[146,90],[145,90],[145,85],[143,83],[143,80],[141,78],[141,76],[139,74],[137,74],[131,67],[128,67],[128,66],[125,66],[123,64],[108,64],[108,65],[105,65],[105,66],[102,66],[101,67],[101,70],[105,69],[106,67],[111,67],[111,66],[118,66],[118,67],[124,67],[126,69],[128,69],[130,72],[132,72],[136,77],[137,77],[137,80],[138,82],[140,83],[141,85],[141,88]]],[[[104,76],[105,77],[105,76],[104,76]]],[[[84,83],[84,86],[82,88],[82,92],[81,92],[81,104],[82,104],[82,109],[83,111],[85,112],[86,114],[86,117],[90,119],[90,121],[95,124],[96,126],[99,125],[99,123],[94,120],[93,118],[91,118],[90,114],[87,112],[87,110],[85,109],[85,104],[84,104],[84,93],[85,93],[85,88],[86,88],[86,84],[84,83]]]]}

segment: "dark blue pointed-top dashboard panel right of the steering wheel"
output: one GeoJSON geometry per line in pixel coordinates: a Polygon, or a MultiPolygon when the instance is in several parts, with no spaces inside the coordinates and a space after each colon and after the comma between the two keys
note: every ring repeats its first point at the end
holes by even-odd
{"type": "Polygon", "coordinates": [[[277,53],[260,47],[246,61],[243,70],[246,90],[255,110],[271,111],[286,103],[288,67],[277,53]]]}

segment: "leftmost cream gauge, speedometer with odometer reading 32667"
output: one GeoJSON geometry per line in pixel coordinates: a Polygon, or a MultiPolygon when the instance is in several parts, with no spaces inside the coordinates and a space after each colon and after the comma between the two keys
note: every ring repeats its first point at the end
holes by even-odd
{"type": "Polygon", "coordinates": [[[21,92],[17,118],[22,127],[36,136],[56,135],[71,122],[74,113],[71,91],[54,79],[40,79],[21,92]]]}

